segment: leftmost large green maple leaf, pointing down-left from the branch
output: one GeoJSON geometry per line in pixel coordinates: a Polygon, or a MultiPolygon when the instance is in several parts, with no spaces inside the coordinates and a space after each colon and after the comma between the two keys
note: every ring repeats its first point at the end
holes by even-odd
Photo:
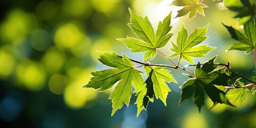
{"type": "Polygon", "coordinates": [[[134,63],[126,57],[125,54],[123,54],[123,58],[119,57],[119,55],[114,52],[99,52],[99,54],[100,62],[104,65],[114,67],[114,69],[106,69],[92,73],[94,77],[92,77],[91,81],[84,87],[100,88],[100,91],[105,91],[119,82],[109,97],[113,102],[112,116],[117,109],[122,108],[124,103],[129,106],[132,85],[134,89],[137,89],[144,81],[140,75],[142,72],[133,68],[134,63]]]}

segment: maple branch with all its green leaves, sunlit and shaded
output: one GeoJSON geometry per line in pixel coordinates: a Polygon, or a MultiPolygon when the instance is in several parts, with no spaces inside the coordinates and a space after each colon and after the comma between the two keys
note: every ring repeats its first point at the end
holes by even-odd
{"type": "MultiPolygon", "coordinates": [[[[178,11],[176,17],[181,17],[189,13],[189,19],[191,19],[196,16],[197,12],[204,16],[203,8],[207,7],[207,5],[202,2],[203,1],[199,0],[189,2],[180,0],[173,1],[172,5],[185,6],[178,11]]],[[[245,0],[239,2],[242,2],[246,7],[249,6],[246,4],[245,0]]],[[[254,5],[254,3],[250,3],[250,6],[251,4],[254,5]]],[[[138,107],[137,116],[139,116],[141,110],[146,110],[148,103],[153,102],[155,98],[162,100],[166,106],[166,98],[171,91],[166,82],[177,83],[175,76],[171,74],[171,70],[183,70],[182,72],[185,71],[185,73],[188,73],[185,74],[185,76],[188,76],[189,79],[180,86],[182,90],[180,103],[193,97],[193,101],[199,111],[201,111],[204,105],[205,94],[212,100],[213,105],[211,108],[213,108],[218,103],[233,107],[235,106],[232,103],[233,101],[239,100],[239,102],[242,103],[246,93],[250,91],[248,89],[249,87],[252,87],[251,91],[253,94],[256,92],[256,77],[253,77],[253,80],[251,80],[231,70],[229,62],[227,62],[227,64],[214,63],[217,55],[205,63],[198,62],[195,64],[193,58],[204,58],[205,54],[216,48],[210,47],[207,44],[201,44],[207,38],[206,33],[209,24],[205,27],[194,29],[191,34],[188,34],[183,24],[178,31],[176,43],[171,42],[172,47],[170,50],[174,53],[166,55],[159,49],[165,47],[173,35],[173,33],[170,33],[170,30],[173,28],[171,26],[171,12],[163,21],[159,21],[155,33],[147,16],[143,18],[134,13],[131,9],[129,9],[129,11],[131,19],[128,25],[138,38],[127,36],[126,38],[118,38],[117,40],[123,42],[131,52],[143,52],[143,61],[148,58],[150,58],[150,60],[154,59],[155,55],[158,53],[169,60],[172,66],[152,64],[150,61],[138,61],[127,57],[125,54],[118,55],[115,52],[98,52],[100,55],[99,61],[103,63],[103,65],[113,68],[92,73],[93,77],[91,81],[84,87],[92,87],[100,91],[105,91],[117,83],[115,89],[109,96],[109,99],[111,99],[113,103],[111,116],[115,114],[116,110],[122,108],[124,104],[129,106],[133,93],[137,97],[135,101],[138,107]],[[178,62],[172,59],[176,57],[178,57],[178,62]],[[195,71],[187,70],[186,67],[188,66],[181,67],[180,63],[183,60],[191,63],[191,65],[188,66],[194,66],[195,71]],[[139,66],[134,67],[134,63],[137,63],[139,66]],[[139,70],[140,67],[143,67],[143,69],[139,70]],[[146,74],[146,79],[143,79],[143,74],[146,74]],[[245,85],[240,81],[241,79],[249,82],[249,84],[245,85]]],[[[245,34],[231,26],[224,26],[231,34],[231,37],[239,41],[239,43],[234,43],[229,50],[242,50],[246,53],[253,51],[256,67],[256,28],[255,21],[252,17],[244,23],[245,34]]]]}

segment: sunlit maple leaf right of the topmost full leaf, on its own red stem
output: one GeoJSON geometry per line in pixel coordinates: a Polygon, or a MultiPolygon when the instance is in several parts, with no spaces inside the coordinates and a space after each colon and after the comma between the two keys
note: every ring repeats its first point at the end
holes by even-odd
{"type": "Polygon", "coordinates": [[[202,43],[207,38],[205,35],[208,26],[209,24],[203,28],[197,28],[188,36],[188,31],[183,24],[177,37],[177,45],[172,42],[173,48],[171,48],[171,50],[175,53],[170,55],[169,58],[180,55],[180,62],[185,60],[194,65],[194,61],[191,57],[202,58],[204,57],[204,54],[215,49],[216,47],[209,47],[207,45],[194,47],[195,45],[202,43]]]}

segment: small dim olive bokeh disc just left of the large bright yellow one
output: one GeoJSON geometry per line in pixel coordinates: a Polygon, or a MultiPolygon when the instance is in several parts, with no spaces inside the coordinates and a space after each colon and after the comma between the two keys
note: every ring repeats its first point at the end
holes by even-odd
{"type": "Polygon", "coordinates": [[[62,94],[66,85],[66,77],[60,74],[54,74],[49,79],[49,89],[54,94],[62,94]]]}

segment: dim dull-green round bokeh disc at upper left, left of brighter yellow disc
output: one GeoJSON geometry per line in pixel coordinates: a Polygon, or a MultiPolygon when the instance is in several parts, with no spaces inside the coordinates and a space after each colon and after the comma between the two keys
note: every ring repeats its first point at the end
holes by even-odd
{"type": "Polygon", "coordinates": [[[51,43],[51,35],[42,29],[36,29],[30,36],[31,46],[38,50],[44,51],[51,43]]]}

